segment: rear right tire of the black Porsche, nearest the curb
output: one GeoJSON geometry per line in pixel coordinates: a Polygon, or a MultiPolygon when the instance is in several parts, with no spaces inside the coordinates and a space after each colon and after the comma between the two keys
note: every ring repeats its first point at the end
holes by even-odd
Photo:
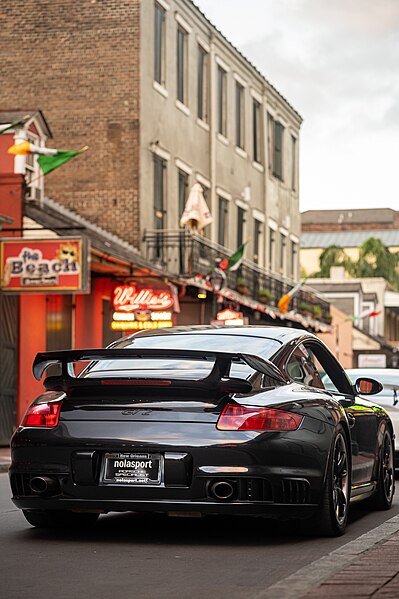
{"type": "Polygon", "coordinates": [[[303,532],[326,537],[344,534],[351,490],[350,462],[348,441],[339,425],[331,443],[320,506],[312,518],[302,521],[303,532]]]}

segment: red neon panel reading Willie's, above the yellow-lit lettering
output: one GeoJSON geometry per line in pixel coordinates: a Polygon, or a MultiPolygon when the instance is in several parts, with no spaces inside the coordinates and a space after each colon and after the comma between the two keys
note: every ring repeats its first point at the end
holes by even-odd
{"type": "Polygon", "coordinates": [[[113,305],[118,312],[167,310],[173,306],[173,296],[165,289],[119,285],[114,289],[113,305]]]}

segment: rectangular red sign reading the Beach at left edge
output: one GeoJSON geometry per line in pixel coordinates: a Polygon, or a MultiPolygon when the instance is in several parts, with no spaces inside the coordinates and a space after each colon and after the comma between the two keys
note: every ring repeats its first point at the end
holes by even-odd
{"type": "Polygon", "coordinates": [[[0,241],[0,289],[9,292],[84,292],[87,244],[80,237],[0,241]]]}

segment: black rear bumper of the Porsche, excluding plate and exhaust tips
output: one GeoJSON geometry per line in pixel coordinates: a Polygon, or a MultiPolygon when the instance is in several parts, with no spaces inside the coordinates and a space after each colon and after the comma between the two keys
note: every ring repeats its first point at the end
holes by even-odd
{"type": "Polygon", "coordinates": [[[134,423],[113,430],[104,427],[106,437],[99,434],[97,423],[83,423],[79,432],[84,436],[74,426],[75,430],[69,424],[68,429],[15,433],[10,479],[18,508],[306,518],[320,503],[331,444],[329,427],[310,422],[309,427],[289,433],[257,434],[218,431],[204,423],[182,423],[177,430],[176,424],[163,423],[161,437],[159,428],[134,423]],[[162,454],[162,484],[103,484],[104,456],[109,451],[162,454]],[[35,494],[30,488],[34,476],[53,477],[52,492],[35,494]],[[232,484],[234,493],[228,501],[215,500],[210,493],[217,480],[232,484]]]}

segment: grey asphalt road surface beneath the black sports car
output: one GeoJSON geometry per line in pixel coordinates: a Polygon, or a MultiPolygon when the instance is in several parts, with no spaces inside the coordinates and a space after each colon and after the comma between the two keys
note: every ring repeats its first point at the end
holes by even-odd
{"type": "Polygon", "coordinates": [[[90,532],[32,528],[0,474],[0,596],[255,599],[267,587],[399,513],[352,509],[347,533],[299,536],[251,518],[109,514],[90,532]]]}

